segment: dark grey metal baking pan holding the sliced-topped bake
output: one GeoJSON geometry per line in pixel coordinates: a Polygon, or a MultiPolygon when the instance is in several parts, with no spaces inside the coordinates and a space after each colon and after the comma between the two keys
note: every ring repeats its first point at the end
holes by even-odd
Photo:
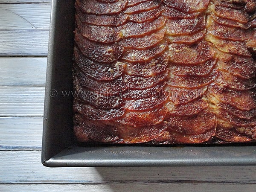
{"type": "Polygon", "coordinates": [[[42,163],[63,166],[252,166],[255,144],[78,145],[72,123],[74,0],[53,0],[44,105],[42,163]]]}

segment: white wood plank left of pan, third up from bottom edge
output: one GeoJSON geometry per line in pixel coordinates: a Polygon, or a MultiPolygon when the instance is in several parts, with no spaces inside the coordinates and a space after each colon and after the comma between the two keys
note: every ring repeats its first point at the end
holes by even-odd
{"type": "Polygon", "coordinates": [[[0,150],[41,149],[43,117],[0,117],[0,150]]]}

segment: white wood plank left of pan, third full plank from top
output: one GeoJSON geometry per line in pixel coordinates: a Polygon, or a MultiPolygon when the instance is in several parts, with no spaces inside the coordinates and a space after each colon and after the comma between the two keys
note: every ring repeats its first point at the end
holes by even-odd
{"type": "Polygon", "coordinates": [[[0,86],[44,86],[47,57],[0,57],[0,86]]]}

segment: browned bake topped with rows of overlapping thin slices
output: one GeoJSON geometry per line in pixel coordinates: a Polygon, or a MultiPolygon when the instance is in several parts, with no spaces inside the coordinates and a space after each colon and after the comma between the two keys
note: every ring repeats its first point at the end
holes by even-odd
{"type": "Polygon", "coordinates": [[[77,140],[256,140],[255,18],[255,0],[76,0],[77,140]]]}

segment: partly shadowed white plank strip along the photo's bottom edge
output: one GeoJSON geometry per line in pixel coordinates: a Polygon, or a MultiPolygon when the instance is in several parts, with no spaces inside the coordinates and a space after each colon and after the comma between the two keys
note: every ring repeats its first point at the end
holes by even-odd
{"type": "Polygon", "coordinates": [[[255,184],[106,184],[106,185],[83,185],[83,184],[0,184],[4,192],[255,192],[255,184]]]}

